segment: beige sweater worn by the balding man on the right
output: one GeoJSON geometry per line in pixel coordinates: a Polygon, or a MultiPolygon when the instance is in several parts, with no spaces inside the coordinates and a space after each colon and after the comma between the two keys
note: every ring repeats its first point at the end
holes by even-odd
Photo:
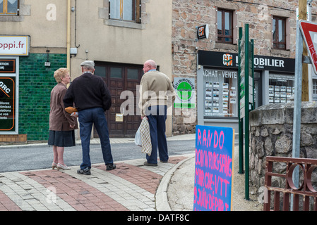
{"type": "Polygon", "coordinates": [[[145,115],[145,110],[151,105],[171,106],[176,93],[171,80],[159,71],[149,71],[143,75],[140,82],[140,115],[145,115]],[[172,97],[172,98],[171,98],[172,97]]]}

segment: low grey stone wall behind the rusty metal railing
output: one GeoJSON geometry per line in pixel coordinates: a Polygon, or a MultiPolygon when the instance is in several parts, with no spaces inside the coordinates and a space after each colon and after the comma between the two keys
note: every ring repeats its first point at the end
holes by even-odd
{"type": "MultiPolygon", "coordinates": [[[[264,186],[265,157],[292,158],[294,103],[263,105],[250,113],[250,183],[264,186]]],[[[301,103],[300,158],[317,158],[317,103],[301,103]]],[[[282,181],[276,181],[282,185],[282,181]]]]}

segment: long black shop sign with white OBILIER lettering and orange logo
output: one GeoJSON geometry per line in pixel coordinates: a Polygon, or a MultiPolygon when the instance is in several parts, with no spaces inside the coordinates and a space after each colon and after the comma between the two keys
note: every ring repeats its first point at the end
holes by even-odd
{"type": "MultiPolygon", "coordinates": [[[[219,51],[198,51],[198,64],[203,66],[238,69],[238,54],[219,51]]],[[[281,58],[271,56],[254,56],[254,70],[269,70],[275,72],[295,71],[294,58],[281,58]]]]}

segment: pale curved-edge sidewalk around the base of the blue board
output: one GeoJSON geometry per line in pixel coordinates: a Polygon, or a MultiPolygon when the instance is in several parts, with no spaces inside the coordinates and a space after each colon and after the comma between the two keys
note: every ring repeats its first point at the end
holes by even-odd
{"type": "MultiPolygon", "coordinates": [[[[234,148],[232,211],[263,211],[263,204],[259,203],[258,196],[252,194],[253,192],[250,191],[250,200],[245,199],[245,176],[238,172],[239,147],[236,145],[234,148]]],[[[163,195],[160,203],[165,204],[157,204],[157,210],[192,211],[194,179],[195,154],[188,155],[186,159],[181,160],[165,174],[160,187],[157,189],[157,195],[163,195]],[[168,186],[165,188],[167,182],[168,186]],[[162,189],[167,190],[167,195],[165,195],[164,191],[160,190],[161,186],[164,187],[162,189]]],[[[252,190],[251,187],[250,190],[252,190]]]]}

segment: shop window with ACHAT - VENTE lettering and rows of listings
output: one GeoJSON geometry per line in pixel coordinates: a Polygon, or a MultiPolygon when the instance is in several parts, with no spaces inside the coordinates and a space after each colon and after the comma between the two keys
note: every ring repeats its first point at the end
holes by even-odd
{"type": "Polygon", "coordinates": [[[238,117],[238,72],[204,69],[204,117],[238,117]]]}

